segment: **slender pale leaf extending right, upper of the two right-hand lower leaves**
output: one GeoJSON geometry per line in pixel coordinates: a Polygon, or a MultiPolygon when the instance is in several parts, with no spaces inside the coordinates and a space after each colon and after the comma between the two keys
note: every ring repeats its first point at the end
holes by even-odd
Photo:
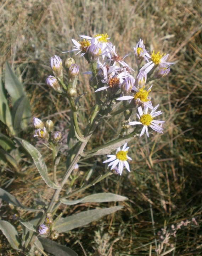
{"type": "Polygon", "coordinates": [[[112,193],[99,193],[99,194],[92,194],[90,196],[86,196],[84,198],[78,199],[78,200],[67,200],[62,199],[60,200],[63,204],[78,204],[78,203],[103,203],[103,202],[118,202],[118,201],[124,201],[128,200],[127,197],[119,196],[117,194],[112,193]]]}

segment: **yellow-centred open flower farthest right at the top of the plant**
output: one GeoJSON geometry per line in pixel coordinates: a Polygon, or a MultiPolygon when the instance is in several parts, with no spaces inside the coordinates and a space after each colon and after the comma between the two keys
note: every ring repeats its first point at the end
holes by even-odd
{"type": "Polygon", "coordinates": [[[143,70],[145,70],[145,71],[147,71],[147,73],[149,72],[149,71],[151,71],[152,70],[152,68],[156,65],[156,66],[166,66],[166,67],[168,67],[168,66],[170,66],[170,65],[173,65],[173,64],[175,64],[174,62],[166,62],[166,60],[168,59],[168,56],[169,56],[169,54],[160,54],[160,52],[157,52],[157,53],[155,53],[155,50],[153,50],[153,53],[150,55],[150,57],[149,58],[151,58],[151,61],[150,62],[148,62],[147,64],[145,64],[141,69],[140,69],[140,71],[143,71],[143,70]]]}

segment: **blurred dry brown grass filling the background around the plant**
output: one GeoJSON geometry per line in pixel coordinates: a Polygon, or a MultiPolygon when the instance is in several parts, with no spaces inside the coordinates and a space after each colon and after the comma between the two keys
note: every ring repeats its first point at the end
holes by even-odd
{"type": "MultiPolygon", "coordinates": [[[[153,83],[154,105],[160,104],[166,121],[164,133],[154,133],[151,138],[134,139],[129,143],[131,173],[111,175],[107,180],[86,191],[112,192],[127,196],[124,209],[92,223],[85,228],[72,230],[60,236],[62,244],[79,255],[156,255],[161,243],[158,231],[171,229],[181,221],[196,218],[170,238],[175,250],[167,255],[200,255],[202,250],[202,7],[198,0],[2,0],[0,3],[0,70],[9,61],[23,82],[32,107],[32,114],[40,119],[52,119],[62,133],[68,133],[69,106],[45,85],[51,74],[50,57],[60,55],[63,61],[74,54],[62,54],[73,48],[71,38],[108,33],[120,55],[127,57],[134,69],[133,46],[143,39],[150,52],[169,53],[169,61],[176,62],[168,77],[153,83]],[[82,249],[83,248],[83,249],[82,249]]],[[[86,113],[93,102],[89,86],[86,61],[74,57],[80,65],[79,94],[83,97],[80,125],[85,126],[86,113]]],[[[104,123],[88,144],[88,149],[118,135],[121,116],[104,123]]],[[[43,145],[33,138],[33,127],[20,133],[20,137],[40,147],[49,162],[43,145]]],[[[0,132],[9,135],[4,124],[0,132]]],[[[64,140],[65,141],[65,140],[64,140]]],[[[65,159],[65,145],[62,158],[65,159]]],[[[33,165],[18,160],[19,171],[6,164],[1,166],[1,187],[8,190],[27,206],[39,198],[47,200],[51,191],[44,191],[44,183],[33,165]],[[30,184],[31,183],[31,184],[30,184]]],[[[98,161],[94,176],[103,174],[103,158],[92,158],[79,163],[79,175],[74,183],[79,186],[92,163],[98,161]]],[[[62,163],[62,161],[61,161],[62,163]]],[[[51,164],[51,163],[50,163],[51,164]]],[[[64,165],[60,165],[59,175],[64,165]]],[[[73,178],[73,177],[72,177],[73,178]]],[[[70,187],[70,184],[68,185],[70,187]]],[[[65,193],[65,191],[63,191],[65,193]]],[[[79,194],[78,197],[84,195],[79,194]]],[[[11,219],[12,210],[1,203],[2,219],[11,219]]],[[[99,207],[106,206],[100,204],[99,207]]],[[[71,215],[82,209],[93,209],[95,204],[80,204],[64,209],[71,215]]],[[[22,212],[23,218],[30,218],[22,212]]],[[[1,234],[1,255],[15,255],[1,234]]],[[[164,246],[165,247],[165,246],[164,246]]],[[[166,250],[171,247],[164,248],[166,250]]],[[[163,255],[163,254],[162,254],[163,255]]]]}

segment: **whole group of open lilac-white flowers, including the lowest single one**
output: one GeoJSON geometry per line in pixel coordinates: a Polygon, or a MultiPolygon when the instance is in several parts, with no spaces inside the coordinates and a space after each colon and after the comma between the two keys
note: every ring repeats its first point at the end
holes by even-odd
{"type": "MultiPolygon", "coordinates": [[[[141,125],[140,137],[144,133],[150,137],[150,128],[162,133],[164,121],[155,120],[162,112],[157,111],[159,105],[155,107],[152,105],[150,96],[152,85],[148,85],[148,82],[168,75],[170,66],[174,64],[167,62],[169,55],[160,52],[155,53],[155,50],[149,54],[143,40],[140,39],[134,47],[134,57],[138,67],[137,75],[134,76],[134,69],[125,60],[123,61],[128,54],[123,58],[118,55],[107,34],[96,34],[92,37],[82,35],[80,37],[82,38],[80,41],[72,39],[74,49],[69,52],[81,53],[81,56],[84,56],[88,61],[91,71],[86,72],[86,74],[92,75],[90,81],[95,81],[96,70],[97,84],[92,83],[92,86],[95,93],[99,94],[99,104],[102,105],[107,100],[115,100],[117,103],[123,101],[125,110],[128,110],[129,113],[124,114],[125,120],[122,121],[122,128],[127,130],[132,126],[141,125]],[[131,110],[134,108],[137,109],[138,121],[130,120],[131,110]]],[[[120,175],[124,167],[130,171],[127,162],[127,160],[131,160],[127,155],[128,149],[129,147],[125,143],[122,150],[120,147],[117,149],[116,155],[107,155],[109,159],[104,163],[110,162],[108,167],[120,175]]]]}

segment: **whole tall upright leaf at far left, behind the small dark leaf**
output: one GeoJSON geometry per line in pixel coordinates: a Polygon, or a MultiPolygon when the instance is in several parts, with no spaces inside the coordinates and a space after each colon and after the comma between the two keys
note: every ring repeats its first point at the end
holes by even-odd
{"type": "MultiPolygon", "coordinates": [[[[28,126],[31,117],[31,107],[29,104],[29,100],[24,92],[23,86],[21,82],[18,80],[17,76],[13,73],[12,69],[9,66],[9,63],[6,62],[5,65],[5,88],[9,95],[11,96],[12,106],[16,107],[15,103],[19,98],[24,96],[23,104],[23,112],[21,119],[18,121],[21,123],[21,128],[24,129],[28,126]]],[[[22,105],[22,103],[21,103],[22,105]]]]}

